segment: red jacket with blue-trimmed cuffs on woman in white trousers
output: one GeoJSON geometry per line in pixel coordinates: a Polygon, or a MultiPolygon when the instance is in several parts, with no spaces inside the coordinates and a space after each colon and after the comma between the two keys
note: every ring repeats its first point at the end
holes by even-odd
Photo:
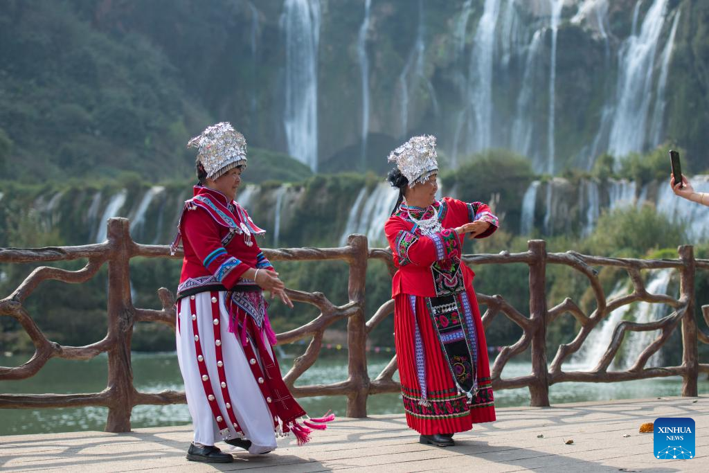
{"type": "Polygon", "coordinates": [[[254,238],[264,233],[235,201],[219,191],[195,186],[194,197],[185,201],[172,244],[174,250],[182,241],[184,248],[178,299],[235,286],[256,289],[252,279],[241,276],[249,268],[273,269],[254,238]]]}

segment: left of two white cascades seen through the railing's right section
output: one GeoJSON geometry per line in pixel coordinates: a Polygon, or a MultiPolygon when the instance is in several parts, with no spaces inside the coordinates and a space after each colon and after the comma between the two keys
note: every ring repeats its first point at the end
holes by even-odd
{"type": "MultiPolygon", "coordinates": [[[[629,293],[627,281],[619,281],[615,284],[615,288],[611,291],[606,300],[613,301],[613,299],[618,299],[629,293]]],[[[579,371],[591,371],[591,369],[595,368],[598,362],[601,361],[605,350],[608,350],[610,340],[613,339],[615,327],[618,326],[618,323],[623,321],[625,314],[630,311],[630,307],[630,304],[626,304],[606,315],[605,320],[599,322],[598,325],[591,330],[591,333],[588,334],[588,337],[584,340],[584,344],[581,345],[579,351],[571,356],[569,368],[579,371]]],[[[613,366],[613,362],[611,362],[610,366],[613,366]]]]}

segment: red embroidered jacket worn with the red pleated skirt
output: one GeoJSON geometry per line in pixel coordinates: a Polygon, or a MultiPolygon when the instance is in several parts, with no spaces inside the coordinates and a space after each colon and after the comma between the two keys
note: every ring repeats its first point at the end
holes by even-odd
{"type": "MultiPolygon", "coordinates": [[[[384,233],[398,268],[391,286],[391,296],[447,296],[464,291],[472,284],[475,273],[460,260],[462,235],[455,228],[476,220],[486,221],[490,228],[475,238],[492,235],[499,226],[498,218],[481,202],[467,204],[444,197],[433,204],[442,230],[424,236],[402,206],[386,221],[384,233]]],[[[423,209],[420,209],[423,211],[423,209]]],[[[428,218],[430,211],[418,220],[428,218]]]]}

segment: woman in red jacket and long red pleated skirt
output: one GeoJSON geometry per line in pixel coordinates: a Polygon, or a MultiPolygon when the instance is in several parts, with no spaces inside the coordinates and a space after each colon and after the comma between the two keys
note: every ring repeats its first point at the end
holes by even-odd
{"type": "Polygon", "coordinates": [[[435,199],[435,137],[411,138],[389,161],[399,199],[384,230],[398,268],[392,297],[406,421],[421,443],[447,447],[454,433],[495,420],[474,273],[460,256],[464,234],[485,238],[498,219],[481,202],[435,199]]]}

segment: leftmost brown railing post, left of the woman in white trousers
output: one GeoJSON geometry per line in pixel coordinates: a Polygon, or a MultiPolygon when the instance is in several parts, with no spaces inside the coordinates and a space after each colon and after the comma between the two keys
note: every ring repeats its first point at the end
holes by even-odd
{"type": "Polygon", "coordinates": [[[133,410],[133,301],[130,299],[130,243],[127,218],[108,219],[108,335],[115,343],[108,350],[108,419],[106,432],[130,432],[133,410]]]}

